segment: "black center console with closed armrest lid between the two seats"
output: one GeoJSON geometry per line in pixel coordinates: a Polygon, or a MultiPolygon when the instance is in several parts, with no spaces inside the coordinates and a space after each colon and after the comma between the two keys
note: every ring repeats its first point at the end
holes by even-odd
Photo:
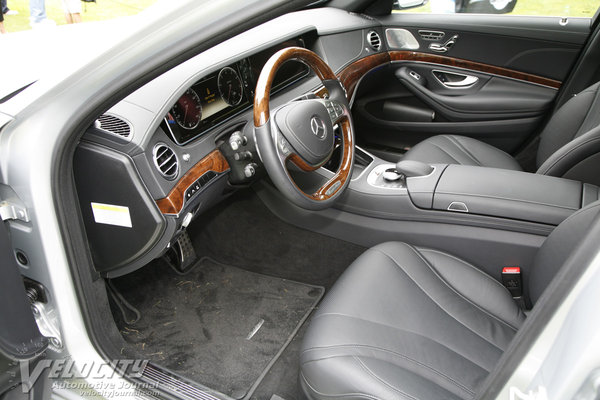
{"type": "Polygon", "coordinates": [[[552,176],[465,165],[426,167],[422,175],[412,172],[407,177],[396,165],[373,158],[361,167],[339,206],[392,219],[404,219],[407,213],[414,219],[419,212],[443,219],[456,213],[466,221],[482,216],[514,221],[515,226],[556,226],[599,197],[597,186],[552,176]]]}

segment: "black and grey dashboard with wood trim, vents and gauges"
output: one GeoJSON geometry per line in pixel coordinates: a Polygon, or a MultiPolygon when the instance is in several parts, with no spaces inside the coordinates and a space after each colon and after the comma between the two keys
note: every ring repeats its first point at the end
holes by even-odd
{"type": "MultiPolygon", "coordinates": [[[[186,60],[99,116],[73,168],[96,271],[111,278],[143,267],[176,247],[194,218],[265,175],[253,100],[274,53],[307,48],[356,81],[362,73],[353,63],[385,52],[365,46],[373,30],[383,36],[377,21],[333,8],[286,14],[186,60]],[[103,219],[98,210],[128,218],[103,219]]],[[[289,61],[275,76],[271,105],[321,90],[316,74],[289,61]]]]}

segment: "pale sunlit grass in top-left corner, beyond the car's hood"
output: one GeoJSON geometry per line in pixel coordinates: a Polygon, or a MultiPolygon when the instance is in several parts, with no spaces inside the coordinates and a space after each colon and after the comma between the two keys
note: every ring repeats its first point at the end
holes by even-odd
{"type": "MultiPolygon", "coordinates": [[[[96,0],[96,3],[82,2],[81,17],[83,22],[88,22],[134,15],[155,2],[156,0],[96,0]]],[[[31,29],[28,0],[8,0],[8,8],[19,12],[18,15],[4,16],[4,26],[8,32],[31,29]]],[[[66,23],[61,0],[46,0],[46,15],[58,25],[66,23]]]]}

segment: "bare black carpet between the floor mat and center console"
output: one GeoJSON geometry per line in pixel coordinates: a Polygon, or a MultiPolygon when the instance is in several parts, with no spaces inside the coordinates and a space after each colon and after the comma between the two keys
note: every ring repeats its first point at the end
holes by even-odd
{"type": "Polygon", "coordinates": [[[250,190],[201,215],[188,232],[199,255],[326,289],[366,250],[283,222],[250,190]]]}

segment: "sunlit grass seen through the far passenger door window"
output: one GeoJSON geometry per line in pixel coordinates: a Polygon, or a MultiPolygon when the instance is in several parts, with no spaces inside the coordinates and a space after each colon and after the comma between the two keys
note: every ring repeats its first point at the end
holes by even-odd
{"type": "MultiPolygon", "coordinates": [[[[517,0],[513,12],[505,15],[548,15],[591,18],[598,7],[600,7],[600,0],[517,0]]],[[[431,12],[431,3],[404,12],[428,13],[431,12]]]]}

